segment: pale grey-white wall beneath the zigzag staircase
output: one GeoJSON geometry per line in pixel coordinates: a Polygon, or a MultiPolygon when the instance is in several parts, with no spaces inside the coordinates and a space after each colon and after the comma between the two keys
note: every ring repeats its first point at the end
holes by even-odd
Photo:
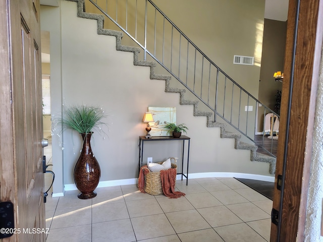
{"type": "MultiPolygon", "coordinates": [[[[251,162],[250,151],[234,150],[233,139],[221,139],[220,128],[206,128],[206,117],[194,117],[193,106],[179,105],[179,94],[165,93],[165,81],[150,80],[148,67],[133,66],[133,53],[116,51],[116,38],[97,35],[95,20],[77,18],[73,2],[61,2],[61,66],[52,65],[53,74],[62,69],[62,89],[52,87],[54,103],[64,105],[94,104],[109,113],[110,131],[107,136],[93,135],[93,152],[101,166],[100,181],[131,179],[138,176],[138,137],[145,134],[141,123],[148,106],[177,107],[177,123],[185,123],[191,137],[189,173],[242,172],[268,174],[268,164],[251,162]],[[61,69],[60,69],[61,68],[61,69]],[[104,139],[105,138],[105,139],[104,139]]],[[[44,15],[42,18],[51,18],[44,15]]],[[[52,28],[55,21],[42,22],[42,30],[52,28]],[[50,22],[50,24],[49,24],[50,22]]],[[[59,23],[57,24],[59,25],[59,23]]],[[[50,33],[52,36],[52,33],[50,33]]],[[[51,47],[55,45],[50,40],[51,47]]],[[[60,61],[56,59],[55,61],[60,61]]],[[[60,116],[52,112],[52,118],[60,116]]],[[[53,166],[63,164],[64,184],[73,184],[74,164],[79,156],[81,141],[78,134],[64,133],[64,162],[53,157],[53,166]]],[[[149,147],[154,161],[177,156],[180,144],[149,147]],[[175,155],[174,155],[175,154],[175,155]]],[[[53,154],[62,151],[53,144],[53,154]]]]}

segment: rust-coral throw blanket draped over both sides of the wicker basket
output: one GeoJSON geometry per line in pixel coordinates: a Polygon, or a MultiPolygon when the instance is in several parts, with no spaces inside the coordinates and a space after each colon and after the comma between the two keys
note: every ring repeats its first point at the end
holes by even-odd
{"type": "MultiPolygon", "coordinates": [[[[143,169],[147,167],[146,165],[142,166],[139,172],[138,178],[138,188],[140,192],[145,193],[145,177],[149,170],[143,169]]],[[[185,193],[175,191],[175,180],[176,180],[176,168],[171,168],[168,170],[160,171],[161,187],[163,188],[163,193],[169,198],[179,198],[185,196],[185,193]]]]}

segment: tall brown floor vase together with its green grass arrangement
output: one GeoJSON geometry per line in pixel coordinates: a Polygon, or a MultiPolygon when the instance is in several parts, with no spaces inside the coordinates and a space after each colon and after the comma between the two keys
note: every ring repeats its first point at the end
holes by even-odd
{"type": "Polygon", "coordinates": [[[96,196],[96,189],[101,176],[99,163],[91,149],[90,139],[94,130],[101,130],[104,110],[96,106],[74,105],[63,109],[63,117],[58,120],[64,129],[78,132],[83,139],[80,157],[74,167],[74,182],[81,192],[80,199],[90,199],[96,196]]]}

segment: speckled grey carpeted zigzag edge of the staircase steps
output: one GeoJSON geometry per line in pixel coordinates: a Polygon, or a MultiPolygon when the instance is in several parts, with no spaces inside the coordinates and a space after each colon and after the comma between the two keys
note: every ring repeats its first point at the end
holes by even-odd
{"type": "Polygon", "coordinates": [[[126,46],[121,44],[121,39],[123,37],[123,32],[104,29],[104,16],[100,14],[86,13],[85,12],[85,0],[68,0],[70,2],[77,3],[77,16],[85,19],[97,20],[97,34],[110,35],[116,37],[116,49],[120,51],[133,52],[134,53],[134,66],[150,67],[150,79],[154,80],[165,80],[165,92],[179,93],[180,94],[180,104],[181,105],[193,105],[193,116],[206,116],[206,127],[208,128],[220,128],[221,138],[235,139],[235,149],[237,150],[250,150],[250,160],[269,163],[269,173],[275,174],[276,170],[276,158],[264,155],[256,152],[257,146],[251,145],[240,141],[241,134],[232,133],[226,131],[227,124],[212,121],[213,112],[201,111],[198,109],[198,100],[186,100],[184,94],[186,89],[174,88],[170,86],[171,75],[160,75],[155,74],[154,70],[156,63],[150,61],[139,61],[138,56],[140,52],[139,47],[126,46]]]}

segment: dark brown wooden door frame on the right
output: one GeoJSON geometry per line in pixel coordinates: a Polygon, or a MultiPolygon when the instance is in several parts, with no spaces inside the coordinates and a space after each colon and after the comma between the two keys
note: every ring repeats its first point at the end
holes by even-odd
{"type": "Polygon", "coordinates": [[[304,240],[322,38],[323,0],[290,0],[273,201],[281,221],[272,223],[271,241],[304,240]],[[279,174],[285,174],[282,194],[279,174]]]}

